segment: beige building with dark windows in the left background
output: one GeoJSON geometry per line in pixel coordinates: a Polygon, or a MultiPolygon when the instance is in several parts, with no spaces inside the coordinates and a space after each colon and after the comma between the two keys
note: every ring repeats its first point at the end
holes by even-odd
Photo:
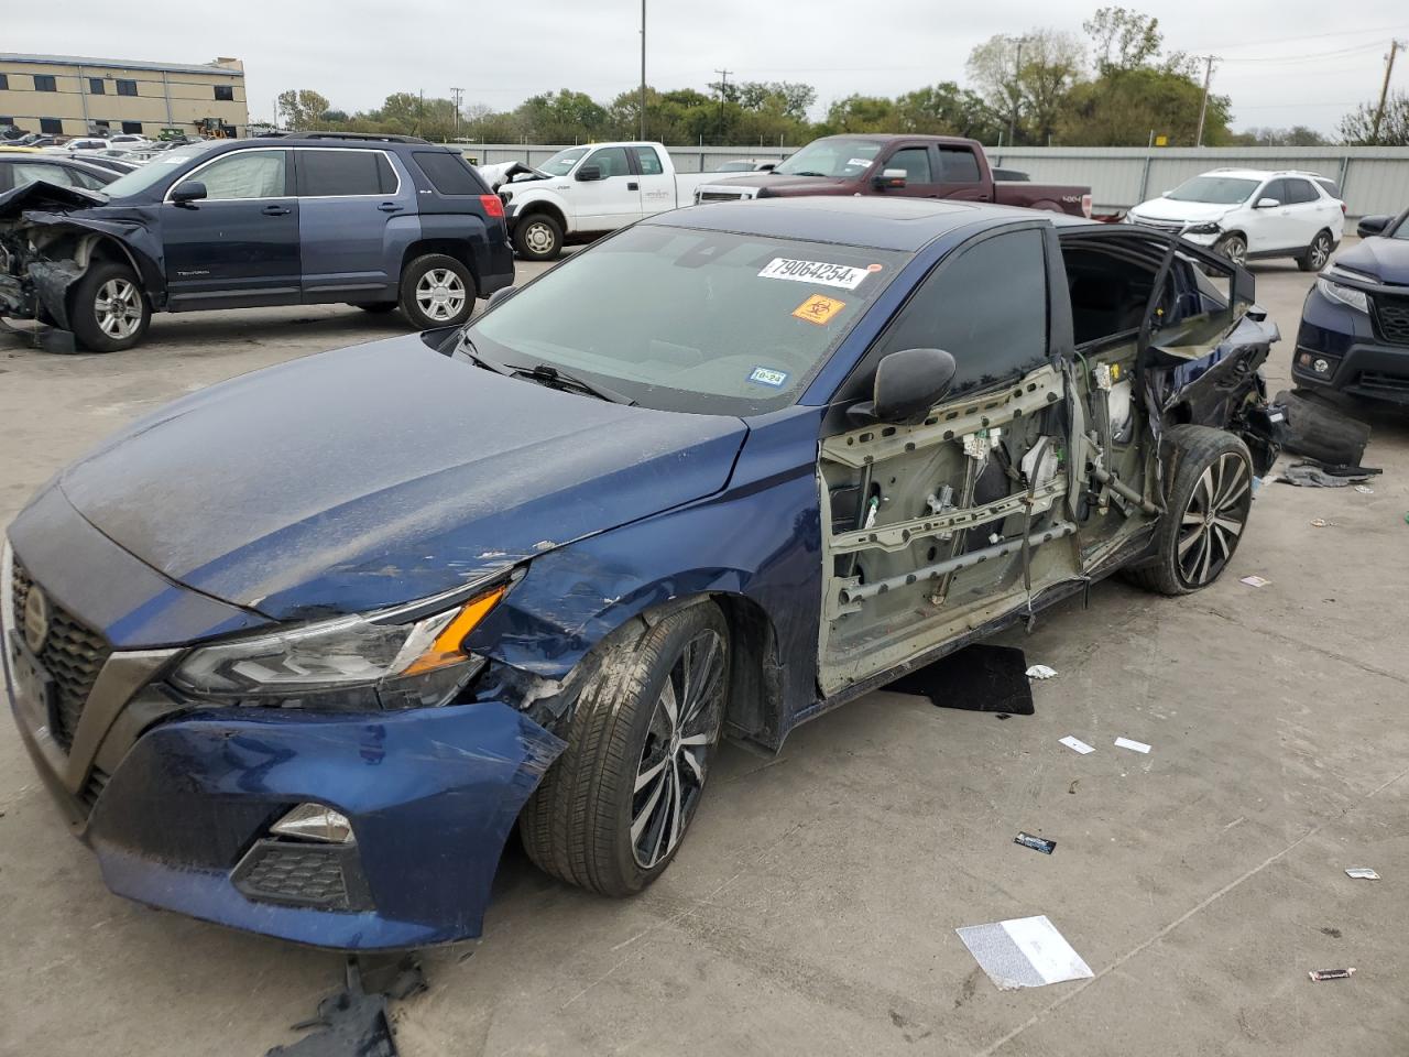
{"type": "Polygon", "coordinates": [[[203,66],[73,55],[0,52],[0,125],[27,132],[104,135],[162,128],[245,135],[245,66],[216,59],[203,66]]]}

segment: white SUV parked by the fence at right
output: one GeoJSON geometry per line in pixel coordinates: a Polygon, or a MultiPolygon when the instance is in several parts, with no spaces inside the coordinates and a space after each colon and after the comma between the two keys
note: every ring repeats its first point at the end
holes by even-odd
{"type": "Polygon", "coordinates": [[[1319,272],[1340,245],[1346,203],[1336,182],[1315,172],[1215,169],[1141,202],[1126,220],[1212,245],[1237,264],[1291,256],[1319,272]]]}

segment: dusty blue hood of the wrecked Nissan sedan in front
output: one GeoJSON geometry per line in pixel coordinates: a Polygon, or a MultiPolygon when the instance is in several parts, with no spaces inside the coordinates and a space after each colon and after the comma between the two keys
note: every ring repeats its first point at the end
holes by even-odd
{"type": "Polygon", "coordinates": [[[59,488],[168,578],[282,620],[451,591],[717,492],[747,431],[504,378],[413,335],[178,400],[59,488]]]}

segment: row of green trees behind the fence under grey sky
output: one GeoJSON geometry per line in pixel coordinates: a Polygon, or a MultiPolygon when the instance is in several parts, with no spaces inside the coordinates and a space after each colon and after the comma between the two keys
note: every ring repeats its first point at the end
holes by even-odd
{"type": "MultiPolygon", "coordinates": [[[[645,134],[666,145],[795,147],[837,132],[965,135],[983,144],[1146,147],[1160,137],[1191,147],[1317,147],[1330,140],[1305,125],[1234,132],[1231,100],[1209,93],[1203,69],[1185,52],[1165,51],[1160,20],[1124,7],[1098,8],[1085,39],[1058,30],[1002,34],[969,52],[971,87],[954,80],[895,97],[851,94],[812,120],[812,85],[735,80],[661,90],[647,87],[645,134]]],[[[300,131],[397,132],[437,141],[576,144],[631,140],[641,128],[638,89],[597,101],[559,89],[513,110],[397,92],[380,107],[348,114],[311,89],[279,94],[279,120],[300,131]]],[[[1348,114],[1348,144],[1409,144],[1409,96],[1395,96],[1375,134],[1375,104],[1348,114]]]]}

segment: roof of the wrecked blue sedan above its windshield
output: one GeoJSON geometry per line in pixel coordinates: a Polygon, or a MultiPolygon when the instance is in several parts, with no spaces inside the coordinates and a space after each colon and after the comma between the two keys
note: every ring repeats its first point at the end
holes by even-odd
{"type": "Polygon", "coordinates": [[[1048,220],[1060,227],[1093,223],[1014,206],[885,196],[710,202],[661,213],[644,223],[914,252],[961,227],[985,223],[996,227],[1020,220],[1048,220]]]}

